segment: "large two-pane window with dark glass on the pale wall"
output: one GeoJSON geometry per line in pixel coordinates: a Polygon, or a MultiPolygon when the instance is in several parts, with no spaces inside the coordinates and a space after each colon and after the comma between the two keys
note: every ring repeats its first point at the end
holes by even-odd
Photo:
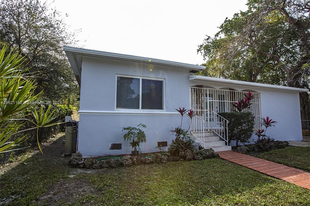
{"type": "Polygon", "coordinates": [[[117,77],[117,109],[163,109],[163,80],[117,77]]]}

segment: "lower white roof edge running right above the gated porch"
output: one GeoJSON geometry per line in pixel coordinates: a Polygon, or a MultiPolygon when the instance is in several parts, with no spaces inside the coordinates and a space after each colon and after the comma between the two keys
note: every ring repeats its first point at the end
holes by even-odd
{"type": "Polygon", "coordinates": [[[246,82],[246,81],[238,81],[232,79],[222,79],[222,78],[215,78],[210,76],[200,76],[200,75],[189,75],[190,81],[200,81],[200,82],[213,82],[213,83],[220,83],[220,84],[229,84],[229,85],[238,85],[238,86],[247,86],[247,88],[274,88],[274,89],[283,89],[283,90],[290,90],[296,92],[308,92],[307,88],[294,88],[294,87],[287,87],[287,86],[279,86],[279,85],[268,85],[262,83],[255,83],[255,82],[246,82]]]}

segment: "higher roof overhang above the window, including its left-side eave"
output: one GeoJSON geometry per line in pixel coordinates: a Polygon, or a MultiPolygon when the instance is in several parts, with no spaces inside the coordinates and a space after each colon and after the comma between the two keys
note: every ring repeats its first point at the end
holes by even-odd
{"type": "Polygon", "coordinates": [[[111,52],[104,52],[104,51],[97,51],[97,50],[91,50],[91,49],[76,48],[76,47],[71,47],[71,46],[64,46],[63,50],[68,57],[72,70],[77,78],[78,84],[80,84],[81,82],[81,70],[82,70],[83,57],[114,59],[114,60],[123,60],[123,61],[148,63],[148,64],[151,63],[155,65],[168,66],[168,67],[173,67],[177,69],[187,69],[189,70],[190,73],[199,72],[205,69],[205,66],[200,66],[200,65],[186,64],[186,63],[175,62],[175,61],[153,59],[153,58],[147,58],[147,57],[139,57],[139,56],[111,53],[111,52]]]}

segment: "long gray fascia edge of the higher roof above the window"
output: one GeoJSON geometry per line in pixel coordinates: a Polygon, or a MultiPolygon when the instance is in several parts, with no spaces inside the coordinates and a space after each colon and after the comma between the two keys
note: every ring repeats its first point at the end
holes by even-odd
{"type": "Polygon", "coordinates": [[[118,53],[111,53],[111,52],[105,52],[105,51],[97,51],[97,50],[77,48],[77,47],[71,47],[71,46],[63,46],[63,50],[66,53],[71,52],[76,55],[102,57],[102,58],[107,58],[107,59],[122,59],[122,60],[127,60],[127,61],[138,61],[138,62],[143,61],[145,63],[152,62],[154,64],[167,65],[171,67],[183,68],[183,69],[188,69],[188,70],[201,71],[205,69],[205,66],[201,66],[201,65],[187,64],[187,63],[181,63],[181,62],[175,62],[175,61],[153,59],[153,58],[125,55],[125,54],[118,54],[118,53]]]}

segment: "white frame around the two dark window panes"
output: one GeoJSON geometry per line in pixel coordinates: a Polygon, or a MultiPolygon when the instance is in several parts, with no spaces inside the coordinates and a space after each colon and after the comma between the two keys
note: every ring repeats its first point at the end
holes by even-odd
{"type": "Polygon", "coordinates": [[[155,77],[145,77],[145,76],[134,76],[134,75],[124,75],[124,74],[116,74],[115,77],[115,102],[114,102],[115,111],[154,111],[154,112],[162,112],[165,111],[165,79],[164,78],[155,78],[155,77]],[[117,78],[118,77],[126,77],[126,78],[135,78],[139,79],[139,109],[130,109],[130,108],[117,108],[117,78]],[[162,82],[162,109],[142,109],[142,79],[145,80],[155,80],[162,82]]]}

